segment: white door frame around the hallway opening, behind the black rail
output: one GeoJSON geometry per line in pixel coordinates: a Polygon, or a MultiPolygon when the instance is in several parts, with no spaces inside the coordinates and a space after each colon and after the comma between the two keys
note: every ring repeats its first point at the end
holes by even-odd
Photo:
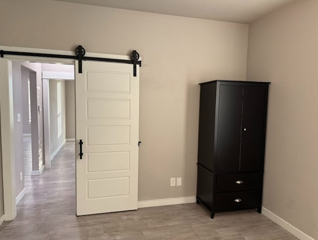
{"type": "MultiPolygon", "coordinates": [[[[39,48],[24,48],[24,47],[9,47],[0,46],[1,50],[14,52],[32,52],[41,54],[59,54],[59,55],[74,55],[73,51],[39,49],[39,48]]],[[[89,53],[87,57],[96,58],[112,58],[131,60],[129,56],[89,53]]],[[[13,116],[13,89],[12,89],[12,60],[17,61],[35,61],[39,63],[61,63],[75,64],[75,59],[58,59],[49,57],[29,57],[5,55],[0,58],[0,71],[4,73],[0,78],[0,117],[1,117],[1,143],[2,143],[2,171],[3,171],[3,202],[4,202],[4,221],[13,220],[16,217],[16,200],[15,200],[15,160],[14,160],[14,116],[13,116]],[[1,60],[4,60],[3,62],[1,60]],[[5,60],[8,60],[7,62],[5,60]],[[8,64],[6,64],[8,63],[8,64]],[[3,140],[6,141],[3,141],[3,140]]],[[[141,59],[139,59],[141,60],[141,59]]],[[[133,67],[133,65],[132,65],[133,67]]],[[[46,161],[47,159],[45,159],[46,161]]]]}

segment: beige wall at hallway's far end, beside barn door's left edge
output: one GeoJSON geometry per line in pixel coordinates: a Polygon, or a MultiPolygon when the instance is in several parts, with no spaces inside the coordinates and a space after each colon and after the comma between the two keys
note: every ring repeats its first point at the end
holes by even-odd
{"type": "Polygon", "coordinates": [[[75,82],[65,81],[66,138],[75,138],[75,82]]]}

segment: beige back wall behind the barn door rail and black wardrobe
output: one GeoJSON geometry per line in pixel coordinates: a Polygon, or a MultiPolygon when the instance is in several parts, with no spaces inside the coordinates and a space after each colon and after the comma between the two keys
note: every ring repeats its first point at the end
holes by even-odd
{"type": "Polygon", "coordinates": [[[196,194],[198,83],[245,80],[248,25],[49,0],[2,0],[1,8],[0,45],[136,49],[143,59],[138,199],[196,194]],[[182,177],[182,186],[170,187],[170,177],[182,177]]]}

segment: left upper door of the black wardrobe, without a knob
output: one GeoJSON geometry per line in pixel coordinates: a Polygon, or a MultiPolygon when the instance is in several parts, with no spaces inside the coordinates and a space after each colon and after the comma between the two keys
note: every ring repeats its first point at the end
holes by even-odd
{"type": "Polygon", "coordinates": [[[239,171],[243,87],[220,85],[217,172],[239,171]]]}

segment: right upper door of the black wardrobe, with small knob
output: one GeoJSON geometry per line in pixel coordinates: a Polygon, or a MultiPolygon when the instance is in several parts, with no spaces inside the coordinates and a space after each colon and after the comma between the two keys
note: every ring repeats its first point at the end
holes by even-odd
{"type": "Polygon", "coordinates": [[[244,87],[240,171],[261,170],[266,92],[265,87],[244,87]]]}

